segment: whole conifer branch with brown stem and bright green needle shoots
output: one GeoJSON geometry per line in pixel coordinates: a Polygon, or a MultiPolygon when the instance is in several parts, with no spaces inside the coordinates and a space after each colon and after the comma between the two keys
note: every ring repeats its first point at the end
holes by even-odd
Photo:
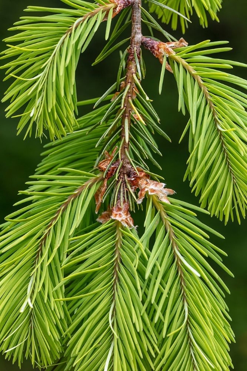
{"type": "Polygon", "coordinates": [[[219,57],[225,41],[190,45],[160,25],[184,33],[196,12],[207,26],[222,0],[61,2],[28,6],[1,56],[6,116],[51,142],[1,225],[0,350],[40,370],[230,370],[229,291],[210,261],[231,272],[207,233],[222,236],[197,213],[245,217],[247,81],[229,70],[247,65],[219,57]],[[99,29],[107,42],[94,64],[119,49],[116,81],[77,101],[77,64],[99,29]],[[171,73],[189,113],[185,179],[201,208],[148,167],[161,169],[155,137],[170,139],[142,87],[144,49],[161,66],[160,93],[171,73]]]}

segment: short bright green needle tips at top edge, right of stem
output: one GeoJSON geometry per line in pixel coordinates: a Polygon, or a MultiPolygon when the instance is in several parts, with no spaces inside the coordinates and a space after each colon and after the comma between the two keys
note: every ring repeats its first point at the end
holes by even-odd
{"type": "Polygon", "coordinates": [[[155,3],[153,3],[152,0],[148,1],[150,1],[149,9],[151,12],[155,12],[162,22],[171,23],[173,30],[177,29],[178,22],[180,22],[183,33],[185,33],[188,27],[188,21],[184,19],[184,17],[179,17],[178,14],[166,9],[163,5],[169,6],[180,12],[188,19],[190,19],[195,11],[200,20],[200,24],[203,27],[207,27],[208,15],[213,20],[219,21],[217,13],[221,9],[222,4],[222,0],[157,0],[155,3]],[[157,5],[157,2],[160,3],[160,6],[157,5]]]}

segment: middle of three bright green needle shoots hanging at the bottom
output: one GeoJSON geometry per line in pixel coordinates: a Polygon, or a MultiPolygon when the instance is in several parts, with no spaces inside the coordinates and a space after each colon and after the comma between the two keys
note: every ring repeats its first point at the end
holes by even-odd
{"type": "Polygon", "coordinates": [[[63,266],[72,315],[67,369],[153,368],[157,339],[147,314],[141,316],[137,275],[138,255],[146,254],[136,233],[121,226],[109,222],[73,238],[63,266]]]}

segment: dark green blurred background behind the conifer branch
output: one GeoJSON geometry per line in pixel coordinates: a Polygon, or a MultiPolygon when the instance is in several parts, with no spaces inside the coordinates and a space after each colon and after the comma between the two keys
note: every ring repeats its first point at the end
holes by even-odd
{"type": "MultiPolygon", "coordinates": [[[[59,0],[0,0],[0,39],[7,36],[7,29],[11,27],[23,13],[27,5],[63,6],[59,0]]],[[[193,23],[185,35],[189,44],[195,44],[206,39],[211,41],[228,40],[233,50],[225,54],[226,59],[236,59],[247,62],[247,1],[223,1],[223,9],[219,14],[220,23],[209,22],[208,29],[200,27],[198,19],[193,18],[193,23]]],[[[103,26],[105,27],[105,26],[103,26]]],[[[170,31],[169,27],[166,30],[170,31]]],[[[144,33],[147,33],[145,31],[144,33]]],[[[77,87],[79,99],[87,99],[99,96],[116,81],[119,54],[115,52],[101,64],[91,67],[97,53],[101,51],[105,42],[101,32],[96,35],[91,46],[79,63],[77,87]]],[[[102,32],[103,34],[103,32],[102,32]]],[[[176,38],[182,35],[180,30],[173,32],[176,38]]],[[[4,49],[4,43],[0,44],[0,50],[4,49]]],[[[163,94],[158,94],[159,74],[161,65],[158,59],[144,52],[147,77],[143,84],[146,92],[154,99],[154,106],[157,109],[165,132],[172,139],[172,143],[157,138],[163,158],[158,159],[163,167],[161,174],[169,188],[175,189],[177,197],[187,202],[198,205],[198,198],[191,194],[188,182],[183,183],[183,175],[186,169],[187,138],[178,145],[178,140],[186,124],[186,118],[177,112],[177,91],[173,77],[166,71],[165,87],[163,94]]],[[[247,78],[247,70],[236,68],[235,73],[247,78]]],[[[0,70],[0,81],[4,72],[0,70]]],[[[6,90],[7,83],[0,83],[0,96],[6,90]]],[[[35,171],[40,161],[42,143],[39,139],[26,139],[23,135],[16,137],[17,119],[4,118],[6,104],[0,106],[0,220],[10,213],[12,204],[17,201],[17,192],[25,188],[28,176],[35,171]]],[[[83,112],[83,111],[81,111],[83,112]]],[[[85,110],[84,110],[85,112],[85,110]]],[[[226,239],[212,237],[212,242],[228,253],[224,263],[234,273],[235,278],[228,277],[224,272],[219,272],[225,279],[231,290],[231,295],[226,297],[233,319],[233,329],[236,334],[236,344],[231,346],[231,355],[235,370],[247,370],[247,237],[246,223],[239,226],[236,222],[229,222],[225,227],[216,218],[201,216],[206,224],[225,235],[226,239]]],[[[1,223],[1,222],[0,222],[1,223]]],[[[138,221],[137,221],[138,224],[138,221]]],[[[0,370],[17,370],[16,365],[0,359],[0,370]]],[[[23,370],[29,371],[32,368],[24,364],[23,370]]],[[[203,370],[202,370],[203,371],[203,370]]]]}

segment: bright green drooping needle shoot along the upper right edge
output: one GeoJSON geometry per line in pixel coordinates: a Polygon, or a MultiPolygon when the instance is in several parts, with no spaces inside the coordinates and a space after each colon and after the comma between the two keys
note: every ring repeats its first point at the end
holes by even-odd
{"type": "Polygon", "coordinates": [[[178,108],[185,112],[186,105],[190,113],[183,133],[189,130],[191,154],[185,178],[196,194],[201,192],[202,207],[208,204],[211,214],[226,223],[235,212],[240,222],[247,206],[247,94],[236,87],[247,90],[247,80],[228,70],[247,65],[208,56],[230,49],[211,48],[215,44],[220,43],[206,41],[177,49],[171,56],[178,108]]]}

